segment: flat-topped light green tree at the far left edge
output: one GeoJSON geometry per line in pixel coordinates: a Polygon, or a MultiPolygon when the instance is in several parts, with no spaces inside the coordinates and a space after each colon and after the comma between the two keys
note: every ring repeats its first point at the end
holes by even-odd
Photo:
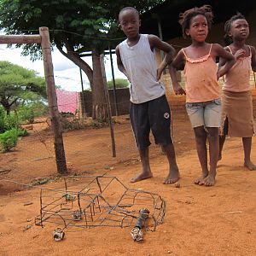
{"type": "Polygon", "coordinates": [[[7,114],[18,104],[45,97],[45,81],[38,77],[38,73],[9,61],[0,61],[0,104],[7,114]]]}

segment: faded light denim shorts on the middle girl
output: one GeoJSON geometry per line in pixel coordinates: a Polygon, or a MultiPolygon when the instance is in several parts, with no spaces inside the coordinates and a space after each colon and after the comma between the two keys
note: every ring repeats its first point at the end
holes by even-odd
{"type": "Polygon", "coordinates": [[[222,106],[219,98],[210,102],[187,102],[186,109],[193,128],[221,125],[222,106]]]}

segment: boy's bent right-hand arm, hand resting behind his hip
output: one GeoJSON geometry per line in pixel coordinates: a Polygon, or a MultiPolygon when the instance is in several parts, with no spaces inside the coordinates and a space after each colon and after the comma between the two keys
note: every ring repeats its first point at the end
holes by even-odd
{"type": "Polygon", "coordinates": [[[175,56],[175,49],[172,47],[171,44],[167,44],[166,42],[162,41],[160,38],[154,35],[148,35],[148,42],[152,50],[154,48],[157,48],[164,51],[166,54],[163,61],[160,63],[160,66],[157,69],[157,79],[159,80],[163,70],[166,68],[168,64],[172,62],[175,56]]]}

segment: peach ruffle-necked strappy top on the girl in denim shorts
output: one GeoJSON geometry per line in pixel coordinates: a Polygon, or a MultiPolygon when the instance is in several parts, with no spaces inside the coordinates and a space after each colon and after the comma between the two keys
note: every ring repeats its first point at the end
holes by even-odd
{"type": "Polygon", "coordinates": [[[208,102],[220,97],[217,81],[218,67],[209,53],[201,58],[191,59],[184,50],[186,58],[184,77],[186,83],[186,102],[208,102]]]}

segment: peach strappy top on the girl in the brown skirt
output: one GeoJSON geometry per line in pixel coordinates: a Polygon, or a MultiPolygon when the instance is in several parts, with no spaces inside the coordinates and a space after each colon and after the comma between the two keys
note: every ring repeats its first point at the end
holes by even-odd
{"type": "MultiPolygon", "coordinates": [[[[230,47],[228,46],[230,49],[230,47]]],[[[236,60],[233,67],[230,68],[228,73],[224,75],[223,90],[231,92],[241,92],[251,90],[250,88],[250,71],[252,63],[252,50],[250,49],[250,55],[247,57],[236,60]]],[[[230,53],[232,51],[230,49],[230,53]]]]}

